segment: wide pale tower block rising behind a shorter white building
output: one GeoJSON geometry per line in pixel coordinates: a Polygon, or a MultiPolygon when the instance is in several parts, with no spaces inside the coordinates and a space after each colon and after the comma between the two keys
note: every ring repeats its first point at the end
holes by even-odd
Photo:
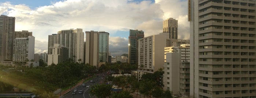
{"type": "Polygon", "coordinates": [[[68,58],[78,63],[84,62],[84,32],[82,29],[58,31],[57,44],[68,48],[68,58]]]}

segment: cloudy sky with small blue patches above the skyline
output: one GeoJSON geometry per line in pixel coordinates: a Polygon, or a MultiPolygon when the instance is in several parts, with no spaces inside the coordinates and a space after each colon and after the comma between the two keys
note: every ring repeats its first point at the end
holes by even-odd
{"type": "Polygon", "coordinates": [[[47,52],[48,35],[80,28],[110,33],[111,56],[122,55],[130,29],[159,34],[167,18],[178,20],[178,39],[189,39],[187,0],[1,0],[0,14],[15,17],[15,31],[33,32],[35,53],[47,52]]]}

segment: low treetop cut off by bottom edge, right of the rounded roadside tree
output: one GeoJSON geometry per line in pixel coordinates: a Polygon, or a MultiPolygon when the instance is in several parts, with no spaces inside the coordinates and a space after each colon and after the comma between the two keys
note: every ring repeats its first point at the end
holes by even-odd
{"type": "Polygon", "coordinates": [[[110,98],[133,98],[129,91],[112,92],[110,98]]]}

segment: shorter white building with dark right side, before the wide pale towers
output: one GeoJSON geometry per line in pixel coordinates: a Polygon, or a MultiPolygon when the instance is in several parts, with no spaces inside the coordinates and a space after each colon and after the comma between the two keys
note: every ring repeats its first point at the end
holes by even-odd
{"type": "Polygon", "coordinates": [[[54,44],[49,48],[48,65],[58,64],[68,59],[68,48],[60,44],[54,44]]]}

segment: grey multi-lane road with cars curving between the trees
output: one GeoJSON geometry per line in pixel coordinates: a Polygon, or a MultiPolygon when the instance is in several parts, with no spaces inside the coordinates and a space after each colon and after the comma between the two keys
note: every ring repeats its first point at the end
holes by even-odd
{"type": "MultiPolygon", "coordinates": [[[[89,80],[89,81],[85,82],[85,85],[86,86],[88,86],[88,85],[92,86],[92,85],[104,83],[104,77],[103,76],[93,78],[92,80],[95,83],[92,83],[89,80]],[[96,81],[96,80],[98,80],[98,81],[96,81]]],[[[82,87],[82,85],[80,85],[80,86],[76,87],[77,91],[76,91],[75,95],[72,95],[72,93],[73,93],[73,90],[72,90],[69,93],[67,93],[66,95],[64,95],[63,98],[95,98],[93,95],[89,94],[89,91],[90,91],[89,88],[82,87]],[[78,94],[79,90],[82,90],[82,94],[78,94]]]]}

